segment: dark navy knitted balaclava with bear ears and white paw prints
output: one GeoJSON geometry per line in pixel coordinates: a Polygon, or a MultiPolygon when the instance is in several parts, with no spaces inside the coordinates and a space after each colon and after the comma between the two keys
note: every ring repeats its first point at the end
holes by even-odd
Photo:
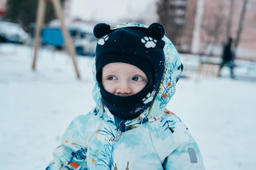
{"type": "Polygon", "coordinates": [[[102,102],[113,115],[130,120],[152,105],[164,73],[164,34],[165,29],[160,23],[152,23],[148,28],[111,30],[105,23],[94,27],[94,36],[99,38],[95,56],[96,79],[102,102]],[[110,63],[127,63],[138,67],[148,78],[146,86],[131,96],[107,92],[102,85],[102,68],[110,63]]]}

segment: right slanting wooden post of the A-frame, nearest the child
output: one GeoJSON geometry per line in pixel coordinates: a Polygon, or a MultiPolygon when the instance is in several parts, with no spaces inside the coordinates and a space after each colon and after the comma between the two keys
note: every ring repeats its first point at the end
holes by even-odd
{"type": "Polygon", "coordinates": [[[65,44],[68,48],[68,53],[69,53],[69,55],[71,55],[73,64],[75,66],[75,70],[76,70],[76,73],[77,73],[77,78],[80,78],[80,74],[79,74],[78,68],[77,68],[77,60],[76,60],[76,53],[75,53],[74,45],[73,45],[73,42],[72,42],[71,37],[69,35],[68,29],[66,28],[65,23],[64,23],[60,0],[52,0],[52,3],[53,3],[54,10],[55,10],[55,14],[56,14],[57,18],[60,20],[60,23],[61,23],[61,29],[62,29],[62,32],[63,32],[63,35],[64,35],[65,44]]]}

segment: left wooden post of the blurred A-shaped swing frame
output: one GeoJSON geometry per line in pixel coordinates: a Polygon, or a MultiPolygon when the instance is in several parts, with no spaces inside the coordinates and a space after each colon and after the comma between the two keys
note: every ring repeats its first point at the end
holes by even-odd
{"type": "Polygon", "coordinates": [[[36,59],[37,59],[37,51],[40,45],[40,37],[41,37],[41,28],[44,21],[46,3],[45,0],[39,0],[37,6],[37,19],[36,19],[36,30],[35,30],[35,39],[34,39],[34,57],[33,57],[33,65],[32,69],[36,68],[36,59]]]}

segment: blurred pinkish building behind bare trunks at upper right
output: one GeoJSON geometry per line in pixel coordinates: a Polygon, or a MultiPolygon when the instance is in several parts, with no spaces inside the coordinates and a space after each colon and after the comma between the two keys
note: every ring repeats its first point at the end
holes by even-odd
{"type": "MultiPolygon", "coordinates": [[[[178,0],[176,0],[178,1],[178,0]]],[[[182,36],[179,37],[178,50],[190,52],[193,30],[195,27],[196,0],[186,0],[185,24],[182,36]]],[[[243,1],[234,0],[231,36],[236,38],[243,1]]],[[[248,1],[243,31],[237,49],[238,57],[255,58],[256,55],[256,0],[248,1]]],[[[204,0],[203,16],[200,27],[200,51],[207,54],[220,55],[223,44],[227,41],[227,24],[230,13],[230,0],[204,0]]],[[[179,13],[179,12],[177,12],[179,13]]]]}

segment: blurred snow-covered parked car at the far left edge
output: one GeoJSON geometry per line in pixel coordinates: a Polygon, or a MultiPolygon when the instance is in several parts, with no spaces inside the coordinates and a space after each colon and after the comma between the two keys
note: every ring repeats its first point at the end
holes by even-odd
{"type": "Polygon", "coordinates": [[[0,21],[0,39],[3,42],[24,43],[29,35],[19,24],[0,21]]]}

